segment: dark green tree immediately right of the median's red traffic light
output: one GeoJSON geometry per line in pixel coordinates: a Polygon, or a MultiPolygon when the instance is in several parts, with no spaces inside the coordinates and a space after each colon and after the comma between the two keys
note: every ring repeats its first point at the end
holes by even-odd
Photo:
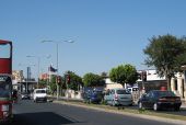
{"type": "MultiPolygon", "coordinates": [[[[67,75],[70,77],[68,88],[72,89],[72,90],[78,90],[79,89],[78,87],[82,86],[82,78],[72,71],[66,71],[66,77],[67,77],[67,75]]],[[[67,80],[67,78],[66,78],[66,80],[67,80]]]]}

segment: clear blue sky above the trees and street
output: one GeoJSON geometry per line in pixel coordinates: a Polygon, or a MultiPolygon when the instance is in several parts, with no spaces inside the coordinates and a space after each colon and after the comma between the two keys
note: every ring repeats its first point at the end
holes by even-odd
{"type": "Polygon", "coordinates": [[[149,38],[186,35],[186,0],[0,0],[0,39],[13,42],[13,70],[101,75],[118,65],[148,69],[149,38]],[[42,43],[42,41],[53,41],[42,43]],[[66,43],[73,41],[74,43],[66,43]],[[34,56],[34,57],[27,57],[34,56]]]}

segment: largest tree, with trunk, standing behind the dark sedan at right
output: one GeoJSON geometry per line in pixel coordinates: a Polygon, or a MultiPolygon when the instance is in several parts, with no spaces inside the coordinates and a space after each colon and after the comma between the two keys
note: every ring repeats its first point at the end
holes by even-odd
{"type": "Polygon", "coordinates": [[[148,56],[147,66],[154,66],[160,77],[167,80],[167,89],[171,90],[171,78],[181,71],[181,66],[186,64],[186,38],[177,38],[173,35],[159,35],[149,39],[150,44],[143,49],[148,56]]]}

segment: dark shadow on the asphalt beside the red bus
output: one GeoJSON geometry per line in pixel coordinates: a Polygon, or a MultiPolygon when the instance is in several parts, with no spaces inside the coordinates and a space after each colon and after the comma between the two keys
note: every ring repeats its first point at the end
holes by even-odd
{"type": "Polygon", "coordinates": [[[15,114],[12,125],[63,125],[78,123],[53,112],[15,114]]]}

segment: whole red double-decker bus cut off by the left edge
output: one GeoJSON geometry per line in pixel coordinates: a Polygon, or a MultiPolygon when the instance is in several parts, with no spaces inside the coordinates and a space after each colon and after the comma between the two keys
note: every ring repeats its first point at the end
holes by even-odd
{"type": "Polygon", "coordinates": [[[0,123],[11,122],[12,113],[12,42],[0,39],[0,123]]]}

